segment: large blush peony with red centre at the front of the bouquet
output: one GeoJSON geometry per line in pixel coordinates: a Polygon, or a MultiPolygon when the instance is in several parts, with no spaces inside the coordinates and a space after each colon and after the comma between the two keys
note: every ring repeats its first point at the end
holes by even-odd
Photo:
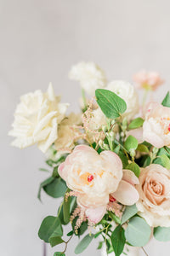
{"type": "Polygon", "coordinates": [[[138,178],[131,171],[125,172],[122,172],[122,161],[117,154],[111,151],[98,154],[86,145],[74,148],[59,166],[59,175],[77,192],[77,204],[86,209],[87,217],[94,223],[105,215],[110,194],[127,205],[139,199],[133,186],[138,178]]]}

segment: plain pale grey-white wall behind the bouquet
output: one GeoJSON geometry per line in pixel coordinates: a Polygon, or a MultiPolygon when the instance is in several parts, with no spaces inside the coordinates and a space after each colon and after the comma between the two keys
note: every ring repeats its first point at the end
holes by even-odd
{"type": "MultiPolygon", "coordinates": [[[[7,137],[19,97],[46,90],[52,81],[63,102],[77,109],[79,87],[67,79],[72,64],[95,61],[109,79],[130,80],[145,67],[159,71],[170,84],[170,2],[167,0],[0,0],[0,255],[42,256],[37,230],[42,218],[55,214],[58,201],[38,184],[46,174],[43,154],[35,148],[10,148],[7,137]]],[[[71,241],[66,255],[75,255],[71,241]]],[[[99,255],[97,243],[82,255],[99,255]]],[[[152,241],[150,256],[169,255],[170,243],[152,241]]],[[[48,248],[48,256],[54,249],[48,248]]],[[[142,255],[142,254],[141,254],[142,255]]]]}

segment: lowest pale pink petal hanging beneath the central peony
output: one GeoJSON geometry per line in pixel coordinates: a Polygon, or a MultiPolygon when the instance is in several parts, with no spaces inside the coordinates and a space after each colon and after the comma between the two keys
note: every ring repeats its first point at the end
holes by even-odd
{"type": "Polygon", "coordinates": [[[85,213],[88,220],[90,220],[94,224],[97,224],[104,217],[105,212],[106,206],[98,208],[88,208],[85,213]]]}

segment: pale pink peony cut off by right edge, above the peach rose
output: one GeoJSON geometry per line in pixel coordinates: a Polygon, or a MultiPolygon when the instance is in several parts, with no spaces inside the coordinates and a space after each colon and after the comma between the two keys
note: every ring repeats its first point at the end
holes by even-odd
{"type": "Polygon", "coordinates": [[[170,108],[150,102],[143,125],[143,138],[156,148],[170,147],[170,108]]]}

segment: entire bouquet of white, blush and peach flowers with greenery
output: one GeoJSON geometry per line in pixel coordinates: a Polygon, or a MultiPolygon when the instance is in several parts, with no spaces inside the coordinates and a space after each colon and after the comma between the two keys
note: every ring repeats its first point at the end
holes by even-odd
{"type": "Polygon", "coordinates": [[[69,104],[60,103],[49,84],[46,93],[21,96],[9,131],[12,145],[37,143],[46,154],[48,167],[41,170],[50,175],[40,184],[39,200],[42,189],[63,198],[57,216],[43,219],[38,236],[51,247],[63,244],[54,256],[65,255],[73,236],[81,238],[76,254],[98,237],[98,249],[116,256],[125,245],[143,248],[150,236],[170,241],[169,92],[161,103],[146,103],[163,83],[160,76],[134,76],[144,90],[140,107],[133,85],[107,83],[93,62],[77,64],[69,76],[81,84],[82,113],[66,115],[69,104]]]}

